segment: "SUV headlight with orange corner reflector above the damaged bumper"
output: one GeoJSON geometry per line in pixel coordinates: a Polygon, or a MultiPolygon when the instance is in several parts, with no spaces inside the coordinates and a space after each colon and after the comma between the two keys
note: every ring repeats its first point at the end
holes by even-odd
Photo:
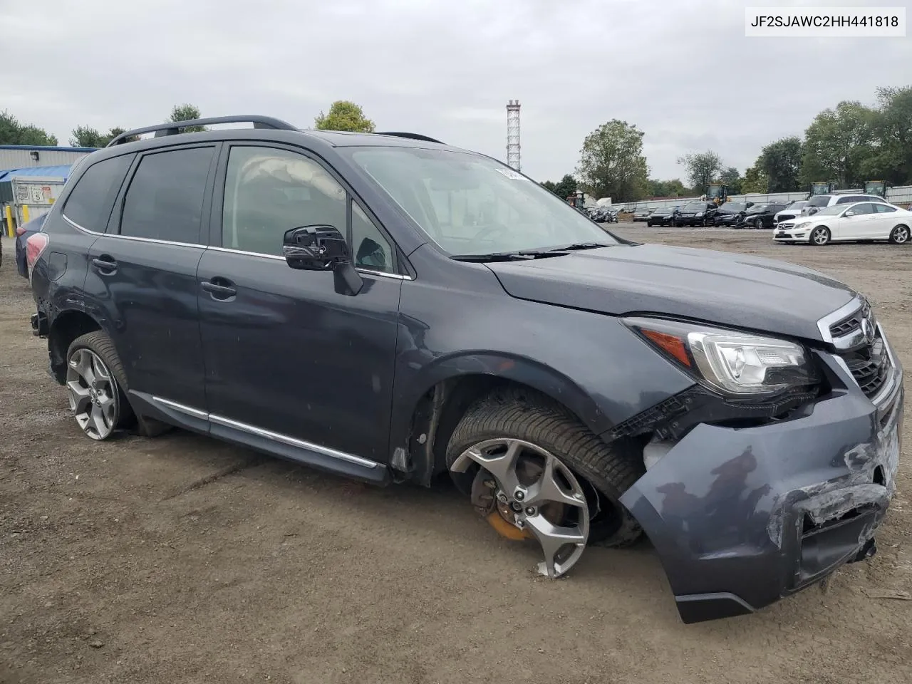
{"type": "Polygon", "coordinates": [[[817,381],[804,347],[789,340],[661,318],[626,318],[624,324],[722,394],[771,395],[817,381]]]}

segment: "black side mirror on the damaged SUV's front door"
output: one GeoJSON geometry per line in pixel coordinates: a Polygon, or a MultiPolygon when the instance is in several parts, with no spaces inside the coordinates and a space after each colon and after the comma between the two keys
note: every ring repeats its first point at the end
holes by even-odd
{"type": "Polygon", "coordinates": [[[351,263],[345,236],[332,225],[305,225],[285,232],[285,262],[300,271],[332,271],[340,295],[358,295],[364,280],[351,263]]]}

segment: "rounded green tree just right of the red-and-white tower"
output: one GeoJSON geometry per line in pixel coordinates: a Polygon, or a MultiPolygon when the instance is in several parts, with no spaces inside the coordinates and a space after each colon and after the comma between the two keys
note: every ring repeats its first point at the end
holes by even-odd
{"type": "Polygon", "coordinates": [[[643,131],[627,121],[611,119],[583,140],[580,184],[594,197],[636,202],[648,192],[648,167],[643,156],[643,131]]]}

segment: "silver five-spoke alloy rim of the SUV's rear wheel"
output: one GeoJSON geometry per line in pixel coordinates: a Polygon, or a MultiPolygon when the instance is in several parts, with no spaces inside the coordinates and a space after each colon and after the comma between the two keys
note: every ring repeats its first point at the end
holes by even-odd
{"type": "Polygon", "coordinates": [[[77,349],[69,358],[67,395],[82,431],[93,440],[107,439],[117,425],[119,394],[109,368],[91,349],[77,349]]]}

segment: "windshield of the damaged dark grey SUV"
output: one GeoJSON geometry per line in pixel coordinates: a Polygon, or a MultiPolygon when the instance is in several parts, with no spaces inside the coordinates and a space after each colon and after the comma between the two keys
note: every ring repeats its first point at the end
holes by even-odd
{"type": "Polygon", "coordinates": [[[349,150],[352,161],[448,254],[619,244],[554,192],[499,161],[453,150],[349,150]]]}

